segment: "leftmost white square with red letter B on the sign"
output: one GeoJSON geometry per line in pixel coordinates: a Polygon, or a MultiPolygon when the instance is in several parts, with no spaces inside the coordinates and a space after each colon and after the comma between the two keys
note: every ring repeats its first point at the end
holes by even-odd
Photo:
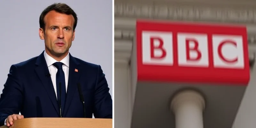
{"type": "Polygon", "coordinates": [[[142,32],[143,64],[173,65],[171,32],[142,32]]]}

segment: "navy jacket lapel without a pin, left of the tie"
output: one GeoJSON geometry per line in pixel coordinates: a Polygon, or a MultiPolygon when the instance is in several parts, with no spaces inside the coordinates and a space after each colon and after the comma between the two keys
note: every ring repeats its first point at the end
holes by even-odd
{"type": "Polygon", "coordinates": [[[49,98],[52,101],[52,105],[54,106],[55,110],[60,114],[58,101],[53,88],[51,77],[46,76],[47,74],[50,74],[50,73],[49,73],[49,69],[47,67],[46,61],[44,59],[44,52],[37,57],[36,66],[37,66],[35,68],[36,74],[38,75],[39,79],[44,85],[44,88],[48,93],[49,98]]]}

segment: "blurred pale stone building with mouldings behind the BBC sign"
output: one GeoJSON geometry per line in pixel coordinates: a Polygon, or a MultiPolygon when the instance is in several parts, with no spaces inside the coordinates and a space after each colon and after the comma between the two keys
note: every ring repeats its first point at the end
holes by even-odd
{"type": "Polygon", "coordinates": [[[114,11],[115,127],[131,127],[136,87],[131,82],[130,62],[137,19],[246,25],[251,80],[232,128],[256,126],[255,0],[115,0],[114,11]]]}

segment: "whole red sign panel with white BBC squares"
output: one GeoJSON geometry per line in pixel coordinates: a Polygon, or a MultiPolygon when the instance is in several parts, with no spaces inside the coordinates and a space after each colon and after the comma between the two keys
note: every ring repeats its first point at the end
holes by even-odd
{"type": "Polygon", "coordinates": [[[136,29],[138,81],[249,82],[244,26],[137,21],[136,29]]]}

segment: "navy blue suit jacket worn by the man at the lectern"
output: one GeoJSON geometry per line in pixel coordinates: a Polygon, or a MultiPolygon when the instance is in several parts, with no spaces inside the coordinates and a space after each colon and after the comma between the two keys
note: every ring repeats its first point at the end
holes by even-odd
{"type": "MultiPolygon", "coordinates": [[[[69,55],[67,98],[62,117],[84,117],[77,83],[85,100],[86,117],[112,118],[112,99],[99,65],[69,55]],[[75,72],[75,69],[78,72],[75,72]]],[[[44,52],[30,60],[12,65],[0,97],[0,125],[12,114],[25,117],[60,117],[60,109],[44,52]]]]}

